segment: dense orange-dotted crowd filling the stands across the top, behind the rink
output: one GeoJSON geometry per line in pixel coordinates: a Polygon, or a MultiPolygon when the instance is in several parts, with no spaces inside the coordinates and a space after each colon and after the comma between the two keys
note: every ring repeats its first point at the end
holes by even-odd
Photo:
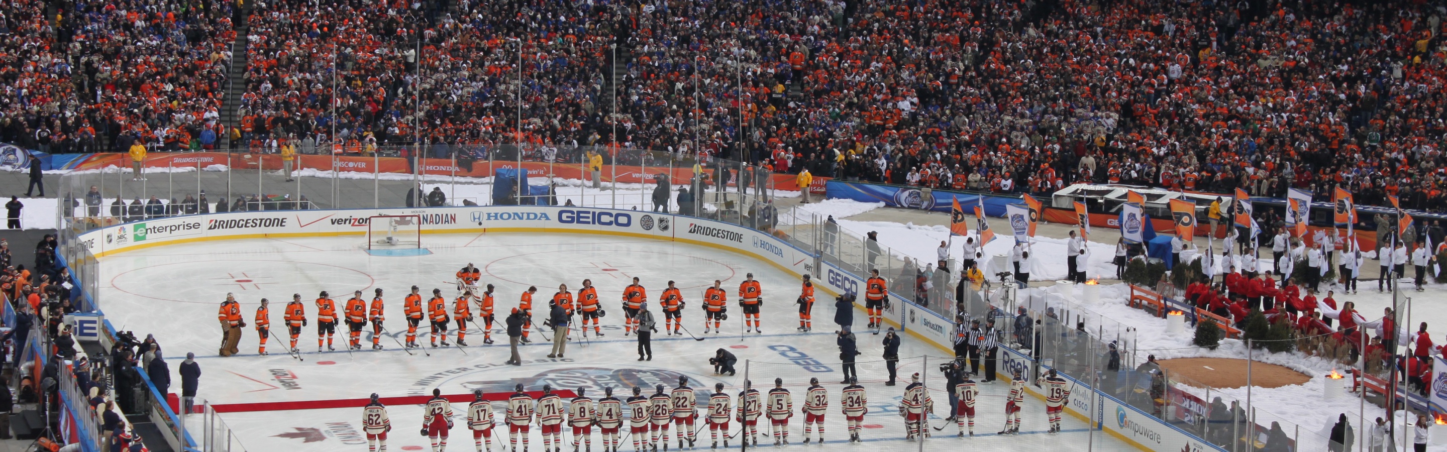
{"type": "Polygon", "coordinates": [[[1428,1],[279,0],[242,13],[237,106],[232,4],[62,3],[54,25],[45,6],[3,6],[0,138],[54,152],[205,148],[234,107],[233,136],[266,149],[616,143],[896,184],[1343,184],[1447,209],[1428,1]]]}

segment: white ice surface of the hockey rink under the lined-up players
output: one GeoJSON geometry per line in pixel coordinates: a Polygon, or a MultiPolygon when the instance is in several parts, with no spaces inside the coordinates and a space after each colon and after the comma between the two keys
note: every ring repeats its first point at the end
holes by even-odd
{"type": "MultiPolygon", "coordinates": [[[[311,407],[363,400],[372,393],[404,397],[430,394],[433,388],[440,388],[443,394],[470,394],[482,388],[489,396],[502,398],[515,384],[522,384],[528,391],[540,391],[543,385],[559,391],[585,388],[586,396],[595,400],[603,397],[603,387],[615,387],[615,396],[627,398],[634,385],[644,387],[644,394],[653,394],[651,387],[657,384],[671,390],[680,375],[689,377],[690,387],[697,391],[700,419],[695,427],[699,429],[705,426],[702,413],[713,384],[722,382],[726,393],[738,394],[745,374],[754,388],[765,393],[773,387],[774,378],[783,378],[784,387],[793,391],[796,410],[803,406],[809,378],[819,378],[829,390],[825,439],[833,448],[1136,449],[1101,430],[1091,432],[1084,420],[1071,416],[1065,417],[1062,433],[1046,433],[1043,401],[1033,397],[1026,398],[1020,433],[996,435],[1004,426],[1004,394],[1009,390],[1004,381],[981,384],[975,438],[955,438],[955,424],[945,422],[949,404],[945,381],[938,369],[948,359],[946,352],[904,336],[900,348],[900,384],[887,387],[884,382],[888,374],[884,364],[877,361],[884,335],[875,336],[864,329],[867,319],[862,311],[855,311],[854,325],[862,352],[858,362],[860,380],[868,391],[870,413],[861,435],[865,443],[848,445],[838,406],[844,385],[839,384],[842,372],[833,333],[838,327],[832,322],[833,300],[819,291],[813,309],[813,332],[797,332],[793,300],[799,294],[800,281],[745,255],[676,242],[576,233],[425,235],[423,246],[430,254],[373,256],[366,252],[365,239],[337,236],[213,240],[146,248],[100,259],[104,275],[100,298],[104,300],[107,319],[117,329],[132,330],[140,338],[155,335],[172,368],[179,365],[187,352],[195,352],[203,369],[198,397],[224,411],[220,419],[233,430],[233,443],[246,451],[366,451],[366,439],[360,433],[362,401],[331,409],[311,407]],[[414,349],[412,353],[404,351],[396,340],[405,339],[401,301],[408,288],[414,284],[421,287],[424,298],[433,288],[441,288],[450,309],[457,296],[453,274],[467,262],[482,271],[480,284],[496,287],[499,322],[492,330],[496,343],[482,345],[483,333],[473,326],[467,330],[470,346],[466,349],[427,348],[425,353],[423,349],[414,349]],[[705,335],[700,309],[703,288],[712,285],[713,280],[721,280],[734,303],[732,297],[745,272],[752,272],[763,284],[764,332],[742,333],[742,313],[735,306],[731,307],[729,322],[722,332],[705,335]],[[653,361],[637,361],[635,338],[624,336],[618,300],[632,277],[641,278],[647,287],[650,306],[658,320],[653,361]],[[534,320],[541,327],[547,300],[557,291],[557,285],[567,284],[576,293],[585,278],[590,278],[598,287],[599,298],[608,310],[608,316],[602,319],[606,336],[596,338],[589,332],[585,340],[574,330],[566,358],[546,358],[551,342],[544,338],[551,338],[551,330],[544,335],[534,329],[530,335],[532,343],[521,348],[524,365],[505,365],[508,340],[501,320],[517,306],[519,294],[528,285],[538,287],[534,296],[534,320]],[[655,300],[669,280],[676,281],[687,301],[684,327],[703,340],[695,340],[687,333],[664,335],[655,300]],[[353,291],[362,290],[365,298],[370,300],[373,288],[385,291],[386,330],[395,340],[382,338],[385,349],[373,351],[368,327],[363,349],[347,352],[346,333],[339,327],[336,351],[317,352],[313,300],[318,293],[328,291],[340,310],[353,291]],[[298,342],[304,361],[287,353],[285,343],[276,340],[268,342],[269,356],[258,355],[258,336],[250,325],[242,339],[242,353],[218,356],[221,332],[216,313],[226,293],[236,294],[247,323],[252,323],[259,300],[269,298],[272,332],[282,340],[287,339],[282,307],[294,293],[301,294],[313,322],[302,329],[298,342]],[[719,348],[739,358],[737,375],[713,375],[708,358],[719,348]],[[933,436],[923,443],[904,439],[903,420],[897,411],[904,385],[915,372],[925,375],[925,384],[936,403],[930,424],[942,427],[930,432],[933,436]]],[[[420,329],[420,333],[424,332],[420,329]]],[[[428,339],[423,335],[418,342],[427,346],[428,339]]],[[[172,391],[178,390],[179,380],[172,384],[172,391]]],[[[1088,391],[1082,391],[1082,396],[1088,397],[1088,391]]],[[[454,403],[453,409],[456,427],[451,430],[449,451],[473,451],[472,435],[466,430],[466,403],[454,403]]],[[[495,404],[499,424],[504,409],[502,403],[495,404]]],[[[388,410],[394,424],[389,451],[430,451],[428,439],[417,433],[421,427],[421,406],[389,406],[388,410]]],[[[185,423],[197,440],[204,436],[203,422],[201,414],[187,416],[185,423]]],[[[790,423],[790,448],[815,446],[802,443],[802,416],[794,416],[790,423]]],[[[737,422],[731,422],[729,427],[731,435],[739,429],[737,422]]],[[[761,420],[760,433],[767,435],[765,429],[767,424],[761,420]]],[[[492,451],[504,451],[505,432],[495,430],[492,451]]],[[[531,432],[530,449],[541,451],[541,435],[535,427],[531,432]]],[[[570,451],[573,439],[567,427],[563,438],[563,449],[570,451]]],[[[696,449],[710,446],[706,429],[696,438],[696,449]]],[[[738,448],[738,439],[735,436],[729,440],[729,448],[738,448]]],[[[764,445],[773,443],[771,439],[760,439],[764,445]]],[[[596,429],[592,445],[602,448],[596,429]]],[[[669,448],[677,448],[677,438],[669,448]]],[[[632,451],[632,438],[625,438],[619,451],[632,451]]]]}

